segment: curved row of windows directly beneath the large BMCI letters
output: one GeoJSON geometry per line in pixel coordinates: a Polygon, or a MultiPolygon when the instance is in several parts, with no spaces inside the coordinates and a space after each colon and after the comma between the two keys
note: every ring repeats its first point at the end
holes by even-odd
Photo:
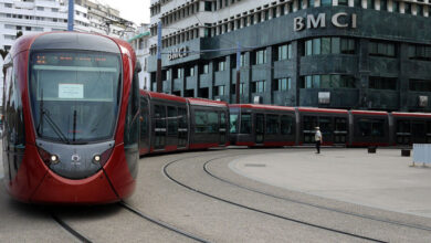
{"type": "Polygon", "coordinates": [[[305,41],[305,55],[355,54],[355,40],[345,38],[316,38],[305,41]]]}

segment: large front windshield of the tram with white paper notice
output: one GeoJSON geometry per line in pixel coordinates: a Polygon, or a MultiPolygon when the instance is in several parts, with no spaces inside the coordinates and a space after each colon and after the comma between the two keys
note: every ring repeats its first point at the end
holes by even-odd
{"type": "Polygon", "coordinates": [[[119,109],[119,54],[34,52],[30,98],[39,137],[86,144],[113,137],[119,109]]]}

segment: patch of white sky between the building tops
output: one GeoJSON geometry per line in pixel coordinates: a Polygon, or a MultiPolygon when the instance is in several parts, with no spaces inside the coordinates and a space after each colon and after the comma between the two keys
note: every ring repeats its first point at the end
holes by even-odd
{"type": "Polygon", "coordinates": [[[126,20],[140,23],[149,23],[150,0],[97,0],[119,10],[119,15],[126,20]]]}

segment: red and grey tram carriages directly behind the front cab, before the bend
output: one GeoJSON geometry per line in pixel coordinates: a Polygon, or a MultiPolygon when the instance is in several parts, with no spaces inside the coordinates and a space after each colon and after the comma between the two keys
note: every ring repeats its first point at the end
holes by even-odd
{"type": "Polygon", "coordinates": [[[228,104],[140,91],[139,155],[225,147],[228,104]]]}

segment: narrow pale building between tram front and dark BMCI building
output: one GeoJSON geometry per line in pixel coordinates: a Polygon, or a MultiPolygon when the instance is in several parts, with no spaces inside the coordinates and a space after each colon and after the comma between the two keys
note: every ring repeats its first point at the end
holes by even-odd
{"type": "Polygon", "coordinates": [[[128,35],[127,42],[135,49],[136,57],[141,65],[139,73],[139,87],[149,89],[149,73],[148,73],[148,57],[149,57],[149,24],[140,24],[137,31],[128,35]]]}

